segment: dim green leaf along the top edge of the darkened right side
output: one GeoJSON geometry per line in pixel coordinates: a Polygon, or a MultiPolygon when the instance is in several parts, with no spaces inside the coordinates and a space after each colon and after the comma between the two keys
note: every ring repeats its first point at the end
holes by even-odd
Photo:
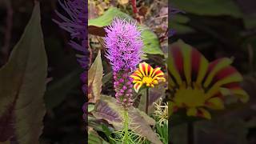
{"type": "Polygon", "coordinates": [[[233,0],[173,0],[173,6],[184,10],[187,13],[198,15],[230,15],[234,18],[241,18],[242,12],[233,0]]]}

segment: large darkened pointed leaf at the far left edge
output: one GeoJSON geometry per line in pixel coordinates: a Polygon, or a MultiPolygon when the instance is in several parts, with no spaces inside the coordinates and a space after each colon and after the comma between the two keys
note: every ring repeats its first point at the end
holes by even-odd
{"type": "Polygon", "coordinates": [[[42,120],[46,113],[47,57],[44,48],[39,2],[10,59],[0,70],[0,139],[16,138],[19,144],[39,143],[42,120]],[[6,118],[6,116],[8,117],[6,118]],[[11,130],[11,133],[10,131],[11,130]]]}

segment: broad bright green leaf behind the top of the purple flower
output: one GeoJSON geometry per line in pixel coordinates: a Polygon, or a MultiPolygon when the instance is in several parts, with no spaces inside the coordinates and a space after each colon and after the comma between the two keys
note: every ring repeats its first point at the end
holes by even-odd
{"type": "MultiPolygon", "coordinates": [[[[89,34],[105,36],[106,32],[104,30],[104,26],[109,26],[114,18],[134,20],[134,18],[131,18],[128,14],[123,13],[117,8],[110,7],[110,9],[106,10],[106,12],[102,16],[89,20],[89,34]]],[[[142,41],[144,43],[144,47],[142,48],[142,50],[146,54],[163,55],[157,35],[154,34],[154,32],[152,32],[150,28],[146,26],[138,27],[142,29],[142,41]]]]}

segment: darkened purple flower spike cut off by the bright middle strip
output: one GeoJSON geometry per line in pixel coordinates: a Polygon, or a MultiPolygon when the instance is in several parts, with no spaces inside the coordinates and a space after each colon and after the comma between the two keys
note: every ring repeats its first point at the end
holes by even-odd
{"type": "Polygon", "coordinates": [[[87,87],[87,71],[89,64],[89,51],[87,50],[87,15],[88,15],[88,1],[87,0],[69,0],[64,2],[58,1],[62,8],[66,11],[66,14],[69,15],[69,18],[66,18],[64,15],[58,13],[56,14],[59,18],[61,18],[61,22],[54,20],[54,22],[58,23],[62,29],[70,32],[70,46],[72,46],[75,50],[81,52],[78,54],[78,62],[80,66],[85,70],[81,74],[81,79],[84,85],[82,86],[82,90],[84,94],[86,94],[87,87]]]}

